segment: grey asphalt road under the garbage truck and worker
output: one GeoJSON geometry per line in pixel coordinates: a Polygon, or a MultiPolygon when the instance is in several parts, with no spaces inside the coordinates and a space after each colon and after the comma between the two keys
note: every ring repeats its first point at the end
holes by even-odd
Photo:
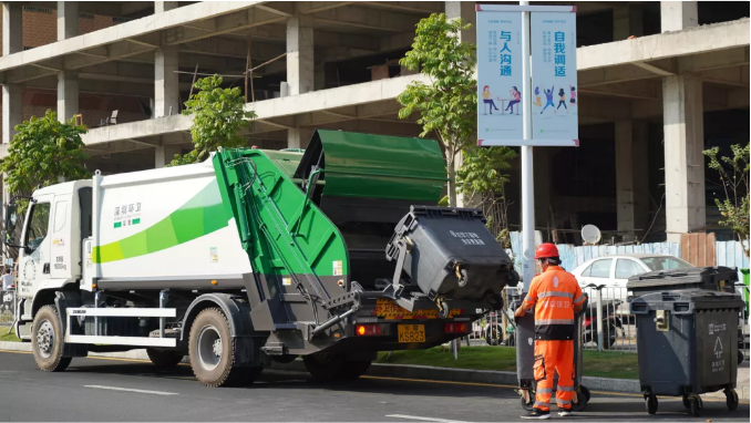
{"type": "MultiPolygon", "coordinates": [[[[0,421],[326,421],[508,422],[523,413],[511,386],[366,376],[320,384],[307,374],[266,371],[249,388],[209,389],[191,368],[160,371],[148,362],[74,359],[62,373],[37,369],[30,353],[0,351],[0,421]]],[[[690,417],[680,400],[660,399],[658,414],[637,395],[593,393],[584,421],[749,421],[749,405],[729,412],[704,402],[690,417]]]]}

